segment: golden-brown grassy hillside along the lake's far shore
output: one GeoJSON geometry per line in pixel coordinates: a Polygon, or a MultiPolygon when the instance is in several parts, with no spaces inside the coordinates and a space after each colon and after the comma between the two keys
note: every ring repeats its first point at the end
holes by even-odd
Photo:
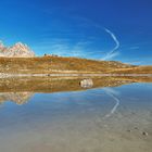
{"type": "Polygon", "coordinates": [[[77,58],[0,58],[0,73],[152,73],[152,66],[139,67],[121,62],[77,58]]]}

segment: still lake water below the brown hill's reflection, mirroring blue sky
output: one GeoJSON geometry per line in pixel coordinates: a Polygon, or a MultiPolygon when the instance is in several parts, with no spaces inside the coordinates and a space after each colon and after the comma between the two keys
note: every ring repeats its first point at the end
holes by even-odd
{"type": "Polygon", "coordinates": [[[151,83],[1,92],[0,101],[0,152],[152,151],[151,83]]]}

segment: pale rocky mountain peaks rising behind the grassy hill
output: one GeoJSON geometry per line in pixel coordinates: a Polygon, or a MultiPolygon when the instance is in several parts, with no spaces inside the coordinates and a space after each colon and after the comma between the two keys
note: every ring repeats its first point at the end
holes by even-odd
{"type": "Polygon", "coordinates": [[[12,47],[5,47],[0,41],[0,56],[4,58],[34,58],[35,53],[29,49],[27,45],[17,42],[12,47]]]}

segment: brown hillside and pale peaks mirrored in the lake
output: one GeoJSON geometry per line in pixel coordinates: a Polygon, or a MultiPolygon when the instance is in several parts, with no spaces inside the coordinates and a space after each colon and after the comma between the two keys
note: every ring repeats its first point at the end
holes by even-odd
{"type": "Polygon", "coordinates": [[[117,87],[131,83],[151,83],[152,77],[20,77],[5,78],[0,81],[0,103],[12,101],[16,104],[24,104],[36,93],[52,93],[62,91],[80,91],[91,88],[117,87]],[[87,84],[84,84],[86,83],[87,84]],[[90,86],[89,86],[90,84],[90,86]],[[84,87],[83,85],[88,85],[84,87]]]}

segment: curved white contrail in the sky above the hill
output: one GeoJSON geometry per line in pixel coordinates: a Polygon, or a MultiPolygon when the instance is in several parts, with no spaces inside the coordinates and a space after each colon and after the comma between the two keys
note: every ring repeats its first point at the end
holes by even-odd
{"type": "Polygon", "coordinates": [[[116,52],[116,50],[119,48],[119,41],[118,41],[117,37],[114,35],[114,33],[112,33],[110,29],[107,29],[107,28],[103,28],[103,29],[112,37],[112,39],[115,42],[114,49],[112,49],[110,52],[107,52],[107,54],[104,58],[102,58],[102,60],[109,60],[118,54],[118,52],[116,52]]]}

